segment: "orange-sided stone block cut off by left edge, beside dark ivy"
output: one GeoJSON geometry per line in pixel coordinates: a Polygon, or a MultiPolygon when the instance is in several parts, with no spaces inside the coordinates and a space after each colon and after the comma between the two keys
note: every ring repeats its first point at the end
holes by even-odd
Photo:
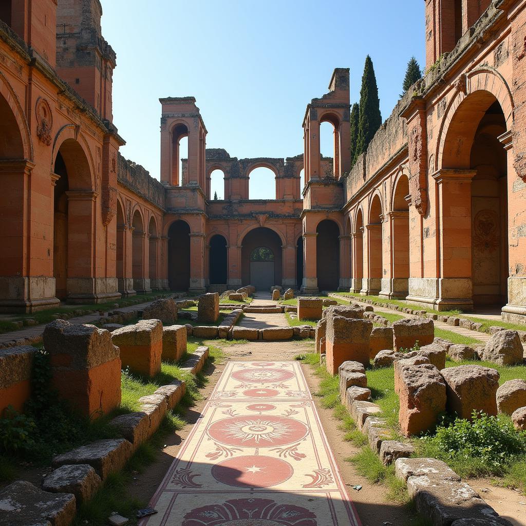
{"type": "Polygon", "coordinates": [[[0,349],[0,418],[8,406],[21,412],[31,397],[34,347],[0,349]]]}

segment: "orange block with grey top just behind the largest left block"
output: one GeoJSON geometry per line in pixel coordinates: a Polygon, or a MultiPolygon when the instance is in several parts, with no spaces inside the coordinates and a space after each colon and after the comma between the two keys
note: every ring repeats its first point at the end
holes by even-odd
{"type": "Polygon", "coordinates": [[[123,367],[144,376],[155,376],[161,369],[163,324],[159,320],[140,320],[112,332],[112,341],[120,348],[123,367]]]}

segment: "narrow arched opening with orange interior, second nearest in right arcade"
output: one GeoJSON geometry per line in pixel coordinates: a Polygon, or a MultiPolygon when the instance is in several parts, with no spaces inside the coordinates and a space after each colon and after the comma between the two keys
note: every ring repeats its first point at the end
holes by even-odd
{"type": "Polygon", "coordinates": [[[409,179],[401,174],[396,181],[390,214],[391,269],[390,296],[405,298],[409,289],[409,179]]]}

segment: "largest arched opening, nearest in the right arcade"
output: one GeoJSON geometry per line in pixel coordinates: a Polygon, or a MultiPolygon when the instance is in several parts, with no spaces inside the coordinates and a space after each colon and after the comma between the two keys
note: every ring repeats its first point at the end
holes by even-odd
{"type": "Polygon", "coordinates": [[[454,298],[460,308],[500,308],[508,299],[508,164],[500,140],[506,131],[498,100],[478,90],[459,104],[444,140],[441,272],[463,282],[464,297],[454,298]]]}

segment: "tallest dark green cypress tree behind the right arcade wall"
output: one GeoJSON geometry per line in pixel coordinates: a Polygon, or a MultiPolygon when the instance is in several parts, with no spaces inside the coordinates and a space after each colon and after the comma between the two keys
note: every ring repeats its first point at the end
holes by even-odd
{"type": "Polygon", "coordinates": [[[372,65],[371,57],[367,55],[360,90],[360,118],[355,158],[367,150],[371,139],[381,125],[382,116],[380,114],[375,68],[372,65]]]}

